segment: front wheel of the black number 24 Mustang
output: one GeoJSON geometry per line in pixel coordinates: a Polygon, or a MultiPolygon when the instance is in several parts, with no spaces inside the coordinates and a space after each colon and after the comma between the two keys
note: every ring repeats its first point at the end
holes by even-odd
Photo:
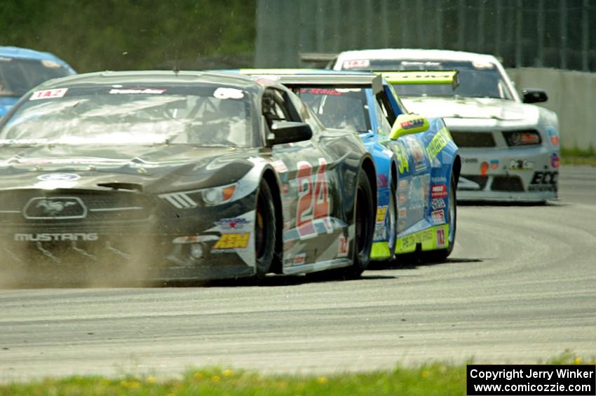
{"type": "Polygon", "coordinates": [[[271,270],[276,247],[276,211],[269,184],[259,184],[255,207],[255,280],[263,280],[271,270]]]}

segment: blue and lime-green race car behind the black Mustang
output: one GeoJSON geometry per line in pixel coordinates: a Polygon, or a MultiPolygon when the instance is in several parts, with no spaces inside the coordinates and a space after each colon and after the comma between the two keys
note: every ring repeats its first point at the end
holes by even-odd
{"type": "Polygon", "coordinates": [[[418,252],[451,254],[461,159],[442,118],[409,114],[377,74],[243,69],[292,88],[327,128],[358,132],[377,168],[377,221],[371,259],[418,252]]]}

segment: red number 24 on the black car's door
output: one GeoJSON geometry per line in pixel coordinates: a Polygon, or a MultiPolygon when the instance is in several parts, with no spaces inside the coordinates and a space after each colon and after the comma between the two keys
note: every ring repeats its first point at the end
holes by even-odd
{"type": "Polygon", "coordinates": [[[325,168],[327,161],[319,158],[319,168],[313,182],[313,167],[306,161],[299,161],[296,180],[298,183],[298,207],[296,211],[297,226],[309,223],[314,219],[328,217],[330,212],[329,186],[325,168]],[[314,189],[313,189],[314,185],[314,189]]]}

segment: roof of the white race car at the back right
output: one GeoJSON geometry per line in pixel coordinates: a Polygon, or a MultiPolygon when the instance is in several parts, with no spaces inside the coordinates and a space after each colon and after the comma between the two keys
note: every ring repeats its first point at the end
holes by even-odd
{"type": "Polygon", "coordinates": [[[452,50],[424,50],[413,48],[383,48],[377,50],[352,50],[345,51],[339,54],[338,62],[345,60],[360,60],[360,59],[404,59],[409,60],[454,60],[454,61],[478,61],[478,62],[492,62],[497,63],[496,57],[493,55],[468,53],[463,51],[452,50]]]}

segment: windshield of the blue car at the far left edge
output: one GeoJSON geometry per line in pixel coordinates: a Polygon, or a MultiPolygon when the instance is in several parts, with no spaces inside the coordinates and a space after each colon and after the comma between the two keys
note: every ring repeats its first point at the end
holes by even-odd
{"type": "Polygon", "coordinates": [[[0,96],[20,97],[43,81],[70,74],[72,71],[53,60],[0,56],[0,96]]]}

